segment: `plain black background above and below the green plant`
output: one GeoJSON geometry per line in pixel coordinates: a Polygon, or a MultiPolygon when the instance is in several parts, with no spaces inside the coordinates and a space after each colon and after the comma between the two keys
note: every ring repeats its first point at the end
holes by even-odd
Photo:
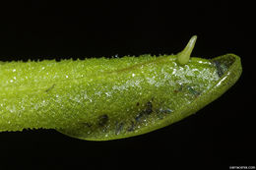
{"type": "Polygon", "coordinates": [[[5,164],[5,169],[256,166],[252,6],[241,1],[2,4],[1,61],[171,54],[197,34],[193,56],[235,53],[243,73],[197,114],[143,136],[87,142],[54,130],[1,133],[0,169],[5,164]]]}

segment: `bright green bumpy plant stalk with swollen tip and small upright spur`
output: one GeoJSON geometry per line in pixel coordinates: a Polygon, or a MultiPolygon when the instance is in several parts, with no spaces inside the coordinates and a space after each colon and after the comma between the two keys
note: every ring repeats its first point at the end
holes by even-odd
{"type": "Polygon", "coordinates": [[[220,97],[241,75],[240,58],[177,55],[0,64],[0,130],[55,129],[107,141],[177,122],[220,97]]]}

